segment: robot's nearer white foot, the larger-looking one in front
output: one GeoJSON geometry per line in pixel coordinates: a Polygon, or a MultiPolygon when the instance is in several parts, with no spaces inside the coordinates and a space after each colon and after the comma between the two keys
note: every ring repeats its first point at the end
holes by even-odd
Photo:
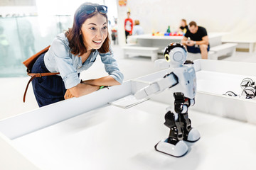
{"type": "Polygon", "coordinates": [[[169,154],[174,157],[182,157],[188,152],[188,146],[183,142],[183,140],[178,141],[176,145],[167,142],[167,140],[168,139],[158,142],[155,146],[156,151],[169,154]]]}

